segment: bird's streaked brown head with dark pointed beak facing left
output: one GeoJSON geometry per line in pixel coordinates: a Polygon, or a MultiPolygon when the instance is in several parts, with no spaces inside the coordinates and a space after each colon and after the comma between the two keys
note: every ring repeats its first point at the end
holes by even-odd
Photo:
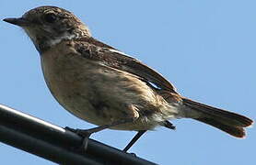
{"type": "Polygon", "coordinates": [[[40,51],[51,48],[63,39],[90,37],[90,32],[71,12],[56,6],[40,6],[22,17],[4,21],[23,28],[40,51]]]}

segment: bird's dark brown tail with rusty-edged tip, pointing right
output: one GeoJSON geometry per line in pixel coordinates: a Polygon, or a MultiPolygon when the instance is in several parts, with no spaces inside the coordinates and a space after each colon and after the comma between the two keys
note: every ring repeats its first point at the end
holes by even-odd
{"type": "Polygon", "coordinates": [[[190,112],[188,117],[215,126],[234,137],[245,137],[244,127],[252,125],[253,121],[243,115],[228,112],[206,104],[194,102],[187,98],[182,98],[183,104],[190,112]],[[193,114],[193,115],[189,115],[193,114]]]}

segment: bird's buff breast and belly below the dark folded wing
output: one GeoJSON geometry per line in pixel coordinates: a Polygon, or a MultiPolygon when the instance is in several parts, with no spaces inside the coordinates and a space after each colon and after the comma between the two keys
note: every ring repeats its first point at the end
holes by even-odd
{"type": "Polygon", "coordinates": [[[147,130],[177,114],[174,107],[131,74],[106,70],[90,60],[51,58],[41,57],[41,65],[52,95],[67,111],[89,123],[111,124],[133,116],[131,108],[135,108],[138,118],[134,123],[112,128],[147,130]],[[163,113],[169,109],[169,113],[163,113]]]}

